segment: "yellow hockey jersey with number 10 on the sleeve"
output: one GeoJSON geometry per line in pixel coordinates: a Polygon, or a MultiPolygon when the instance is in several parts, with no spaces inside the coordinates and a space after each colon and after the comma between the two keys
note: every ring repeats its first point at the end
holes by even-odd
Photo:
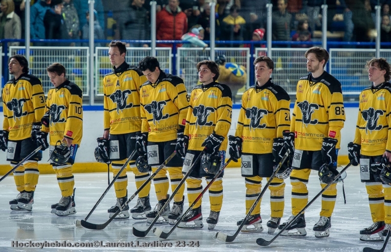
{"type": "Polygon", "coordinates": [[[49,144],[56,145],[64,137],[79,144],[83,136],[83,94],[74,83],[66,80],[47,93],[45,113],[49,113],[49,127],[42,125],[42,131],[49,133],[49,144]]]}

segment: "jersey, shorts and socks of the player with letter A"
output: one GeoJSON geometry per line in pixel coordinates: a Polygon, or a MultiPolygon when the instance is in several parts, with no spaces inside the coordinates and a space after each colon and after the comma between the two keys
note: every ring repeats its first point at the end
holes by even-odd
{"type": "MultiPolygon", "coordinates": [[[[118,68],[114,67],[103,78],[103,126],[110,131],[110,160],[114,177],[135,149],[135,133],[141,131],[139,88],[145,81],[146,77],[130,68],[126,62],[118,68]]],[[[139,188],[150,175],[137,170],[135,159],[129,163],[135,175],[136,187],[139,188]]],[[[128,176],[124,169],[114,183],[116,197],[125,197],[127,187],[128,176]]],[[[140,191],[139,197],[147,197],[150,189],[149,183],[140,191]]]]}

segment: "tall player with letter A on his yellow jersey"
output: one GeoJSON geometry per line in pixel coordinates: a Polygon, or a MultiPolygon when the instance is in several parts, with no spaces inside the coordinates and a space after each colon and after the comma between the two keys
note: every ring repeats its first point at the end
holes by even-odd
{"type": "MultiPolygon", "coordinates": [[[[146,81],[142,74],[130,68],[125,62],[126,46],[120,41],[109,44],[109,59],[113,71],[103,78],[103,138],[110,141],[110,160],[113,176],[116,176],[127,158],[135,149],[136,133],[141,131],[139,88],[146,81]]],[[[135,166],[135,159],[130,160],[130,169],[134,173],[136,187],[139,188],[150,177],[148,172],[140,173],[135,166]]],[[[108,212],[111,217],[128,200],[128,176],[126,169],[114,183],[117,204],[108,212]]],[[[130,209],[133,219],[145,219],[151,210],[148,183],[138,194],[136,206],[130,209]]],[[[129,218],[129,206],[117,215],[116,219],[129,218]]]]}

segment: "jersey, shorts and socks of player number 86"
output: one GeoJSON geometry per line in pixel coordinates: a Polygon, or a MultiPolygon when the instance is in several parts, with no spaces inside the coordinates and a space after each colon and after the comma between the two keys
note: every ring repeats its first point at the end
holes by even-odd
{"type": "MultiPolygon", "coordinates": [[[[344,127],[345,109],[341,83],[324,71],[314,79],[312,74],[297,83],[296,102],[290,131],[295,133],[295,153],[290,175],[292,184],[292,214],[298,214],[308,202],[306,183],[311,169],[319,170],[324,137],[338,140],[344,127]]],[[[321,183],[322,188],[326,183],[321,183]]],[[[331,217],[337,198],[337,185],[331,184],[322,194],[321,216],[331,217]]]]}

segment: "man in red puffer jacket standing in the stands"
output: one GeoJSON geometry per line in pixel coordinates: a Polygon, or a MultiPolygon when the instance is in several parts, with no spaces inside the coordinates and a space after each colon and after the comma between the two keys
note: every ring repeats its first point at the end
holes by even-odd
{"type": "MultiPolygon", "coordinates": [[[[179,7],[179,0],[169,0],[168,5],[156,14],[156,39],[181,40],[187,32],[187,17],[179,7]]],[[[171,47],[171,44],[157,44],[160,47],[171,47]]],[[[180,45],[178,45],[180,46],[180,45]]]]}

